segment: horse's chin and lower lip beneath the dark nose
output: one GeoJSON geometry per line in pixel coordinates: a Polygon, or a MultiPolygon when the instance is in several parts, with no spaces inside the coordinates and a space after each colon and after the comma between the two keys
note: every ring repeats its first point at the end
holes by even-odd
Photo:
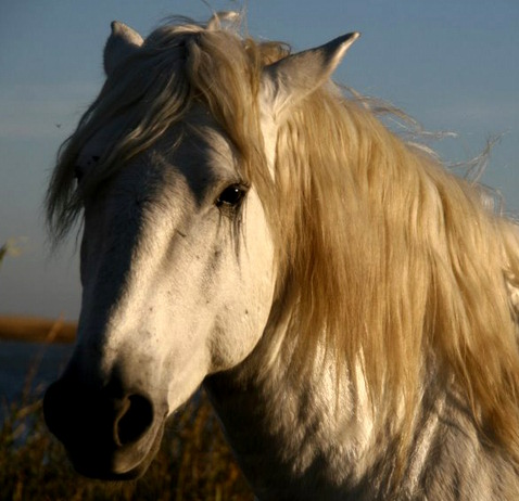
{"type": "Polygon", "coordinates": [[[103,450],[102,447],[89,450],[67,449],[74,468],[80,475],[98,480],[132,480],[147,472],[161,447],[164,425],[156,431],[154,438],[143,437],[141,441],[118,450],[103,450]]]}

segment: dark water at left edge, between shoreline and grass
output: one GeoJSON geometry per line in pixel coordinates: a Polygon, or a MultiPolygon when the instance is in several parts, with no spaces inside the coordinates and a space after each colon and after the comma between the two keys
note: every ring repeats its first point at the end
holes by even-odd
{"type": "Polygon", "coordinates": [[[28,376],[30,388],[38,393],[56,380],[72,355],[73,345],[45,345],[0,341],[0,423],[5,403],[17,401],[28,376]]]}

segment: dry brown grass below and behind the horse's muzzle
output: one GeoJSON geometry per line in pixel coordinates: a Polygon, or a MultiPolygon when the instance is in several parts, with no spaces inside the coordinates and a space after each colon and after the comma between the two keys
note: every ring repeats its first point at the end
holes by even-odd
{"type": "Polygon", "coordinates": [[[12,406],[0,429],[2,500],[252,500],[203,394],[173,419],[147,474],[130,483],[77,475],[47,431],[41,393],[12,406]]]}

